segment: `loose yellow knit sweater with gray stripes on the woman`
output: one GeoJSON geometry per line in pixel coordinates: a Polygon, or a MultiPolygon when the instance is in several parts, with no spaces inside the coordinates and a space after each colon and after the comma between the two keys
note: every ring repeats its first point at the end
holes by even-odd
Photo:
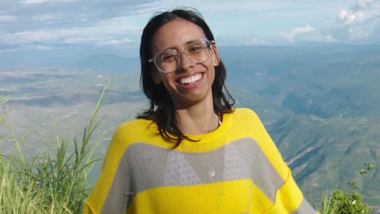
{"type": "Polygon", "coordinates": [[[117,128],[84,214],[316,214],[256,113],[173,143],[151,121],[117,128]]]}

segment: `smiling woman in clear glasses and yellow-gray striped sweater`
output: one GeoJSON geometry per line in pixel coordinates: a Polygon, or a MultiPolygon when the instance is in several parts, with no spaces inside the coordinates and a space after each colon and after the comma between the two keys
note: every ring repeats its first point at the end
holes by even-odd
{"type": "Polygon", "coordinates": [[[316,213],[257,115],[232,109],[201,14],[156,14],[140,58],[150,108],[117,128],[85,214],[316,213]]]}

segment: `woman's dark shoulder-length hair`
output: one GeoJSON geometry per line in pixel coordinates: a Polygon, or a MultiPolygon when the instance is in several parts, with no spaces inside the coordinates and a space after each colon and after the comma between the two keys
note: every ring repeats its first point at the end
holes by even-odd
{"type": "MultiPolygon", "coordinates": [[[[152,120],[157,126],[159,134],[169,142],[176,142],[174,149],[178,147],[182,139],[188,139],[177,127],[175,118],[176,111],[173,102],[163,83],[155,84],[152,78],[152,69],[154,64],[149,63],[152,56],[152,38],[161,26],[176,20],[184,19],[201,27],[207,40],[214,40],[210,28],[207,26],[203,16],[194,8],[177,8],[171,11],[157,12],[149,19],[141,35],[140,61],[141,77],[140,83],[144,94],[147,96],[150,107],[144,112],[138,114],[136,118],[152,120]],[[169,136],[168,133],[175,136],[169,136]]],[[[232,106],[235,101],[225,87],[226,68],[219,59],[219,65],[215,67],[215,79],[212,83],[212,99],[214,103],[214,112],[220,117],[223,114],[232,113],[232,106]],[[224,91],[223,91],[224,89],[224,91]],[[231,100],[231,102],[230,102],[231,100]]],[[[179,123],[178,123],[179,124],[179,123]]],[[[192,139],[188,139],[193,141],[192,139]]]]}

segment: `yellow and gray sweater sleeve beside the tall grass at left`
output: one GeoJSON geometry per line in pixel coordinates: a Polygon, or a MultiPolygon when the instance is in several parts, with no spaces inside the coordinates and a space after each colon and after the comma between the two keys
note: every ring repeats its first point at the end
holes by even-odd
{"type": "Polygon", "coordinates": [[[100,177],[84,204],[83,214],[124,214],[131,197],[131,175],[123,128],[112,137],[100,177]]]}

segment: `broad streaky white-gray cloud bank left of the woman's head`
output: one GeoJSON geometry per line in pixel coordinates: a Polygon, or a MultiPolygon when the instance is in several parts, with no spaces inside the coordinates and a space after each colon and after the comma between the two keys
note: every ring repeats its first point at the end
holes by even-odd
{"type": "Polygon", "coordinates": [[[151,14],[158,6],[155,1],[0,0],[0,45],[111,45],[125,43],[125,37],[135,41],[142,26],[134,24],[133,16],[151,14]]]}

